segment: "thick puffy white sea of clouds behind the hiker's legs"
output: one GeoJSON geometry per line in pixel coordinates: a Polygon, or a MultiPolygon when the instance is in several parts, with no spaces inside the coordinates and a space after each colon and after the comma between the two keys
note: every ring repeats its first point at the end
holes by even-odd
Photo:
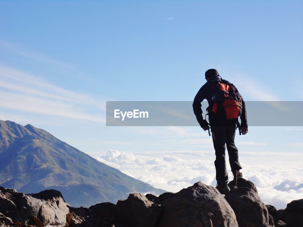
{"type": "MultiPolygon", "coordinates": [[[[244,178],[255,183],[265,204],[285,209],[287,203],[303,198],[303,169],[288,161],[294,157],[301,159],[302,154],[243,152],[240,155],[244,178]],[[284,161],[281,162],[275,157],[280,157],[284,161]]],[[[109,150],[96,159],[155,188],[170,192],[178,192],[198,181],[216,185],[213,152],[181,150],[164,154],[109,150]]],[[[228,162],[227,166],[229,167],[228,162]]],[[[228,171],[231,180],[231,169],[228,171]]]]}

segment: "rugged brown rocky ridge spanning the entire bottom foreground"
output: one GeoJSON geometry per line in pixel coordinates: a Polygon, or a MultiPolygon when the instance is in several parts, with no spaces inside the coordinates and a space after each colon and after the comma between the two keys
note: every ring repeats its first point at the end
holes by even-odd
{"type": "Polygon", "coordinates": [[[36,194],[0,188],[0,227],[299,227],[303,223],[303,199],[285,209],[265,205],[256,186],[238,179],[237,187],[221,195],[201,182],[177,193],[160,196],[131,193],[127,199],[71,207],[61,193],[45,190],[36,194]]]}

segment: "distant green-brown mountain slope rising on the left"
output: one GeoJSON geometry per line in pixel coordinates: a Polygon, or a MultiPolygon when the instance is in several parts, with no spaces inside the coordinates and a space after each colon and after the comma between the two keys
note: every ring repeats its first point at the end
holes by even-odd
{"type": "Polygon", "coordinates": [[[32,125],[0,120],[0,186],[62,192],[71,206],[116,203],[128,193],[165,192],[130,177],[32,125]]]}

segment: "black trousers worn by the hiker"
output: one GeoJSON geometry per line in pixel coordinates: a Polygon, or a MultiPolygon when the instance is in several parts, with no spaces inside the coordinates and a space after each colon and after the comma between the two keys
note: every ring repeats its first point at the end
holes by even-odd
{"type": "Polygon", "coordinates": [[[211,131],[216,154],[216,180],[218,185],[227,184],[228,173],[225,162],[225,143],[231,171],[242,169],[239,163],[238,148],[235,145],[236,126],[212,126],[211,131]]]}

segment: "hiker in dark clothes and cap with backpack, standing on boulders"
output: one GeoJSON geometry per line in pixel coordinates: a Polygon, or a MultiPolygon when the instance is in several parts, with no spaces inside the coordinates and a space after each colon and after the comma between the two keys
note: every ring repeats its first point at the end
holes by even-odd
{"type": "Polygon", "coordinates": [[[209,130],[208,122],[202,117],[201,102],[208,101],[209,125],[211,127],[216,160],[216,188],[221,194],[230,191],[228,187],[228,173],[225,162],[225,144],[228,151],[231,171],[236,178],[243,175],[239,163],[238,149],[235,145],[236,127],[240,135],[248,133],[246,107],[243,97],[237,88],[229,81],[223,80],[215,69],[205,72],[206,83],[200,88],[192,104],[194,113],[201,128],[209,130]],[[238,117],[241,119],[239,125],[238,117]]]}

